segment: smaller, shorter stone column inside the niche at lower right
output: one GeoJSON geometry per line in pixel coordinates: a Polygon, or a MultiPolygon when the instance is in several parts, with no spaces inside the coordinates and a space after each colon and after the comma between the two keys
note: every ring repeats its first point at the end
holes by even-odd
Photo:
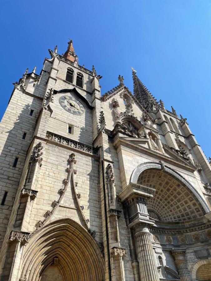
{"type": "Polygon", "coordinates": [[[190,271],[185,259],[185,251],[185,249],[172,250],[172,255],[181,281],[191,281],[190,271]]]}

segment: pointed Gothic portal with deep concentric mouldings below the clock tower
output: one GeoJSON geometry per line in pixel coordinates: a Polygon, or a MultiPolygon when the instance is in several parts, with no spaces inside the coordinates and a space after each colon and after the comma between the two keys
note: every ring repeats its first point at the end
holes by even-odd
{"type": "Polygon", "coordinates": [[[29,240],[24,252],[22,279],[104,280],[104,258],[98,245],[71,219],[56,220],[40,229],[29,240]]]}

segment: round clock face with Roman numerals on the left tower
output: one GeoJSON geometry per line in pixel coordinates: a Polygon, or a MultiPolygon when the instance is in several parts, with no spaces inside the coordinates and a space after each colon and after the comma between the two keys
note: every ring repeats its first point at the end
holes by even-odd
{"type": "Polygon", "coordinates": [[[61,106],[69,113],[75,115],[82,115],[85,112],[83,104],[75,99],[73,96],[65,95],[59,98],[61,106]]]}

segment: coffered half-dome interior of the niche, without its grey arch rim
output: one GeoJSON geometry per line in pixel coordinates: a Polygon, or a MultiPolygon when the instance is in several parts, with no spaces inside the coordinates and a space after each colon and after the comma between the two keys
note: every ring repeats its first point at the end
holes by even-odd
{"type": "Polygon", "coordinates": [[[200,218],[204,214],[192,191],[163,171],[144,170],[137,183],[156,190],[153,198],[147,201],[147,209],[153,219],[176,222],[200,218]]]}

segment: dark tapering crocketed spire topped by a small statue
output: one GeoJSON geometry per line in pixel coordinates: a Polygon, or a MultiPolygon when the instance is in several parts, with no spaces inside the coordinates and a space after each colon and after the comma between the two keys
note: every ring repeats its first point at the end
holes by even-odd
{"type": "Polygon", "coordinates": [[[132,68],[133,75],[133,92],[136,99],[140,102],[140,104],[146,109],[146,111],[151,112],[153,110],[153,106],[158,106],[158,102],[153,97],[153,95],[148,91],[147,87],[144,86],[142,81],[136,75],[136,71],[132,68]]]}

